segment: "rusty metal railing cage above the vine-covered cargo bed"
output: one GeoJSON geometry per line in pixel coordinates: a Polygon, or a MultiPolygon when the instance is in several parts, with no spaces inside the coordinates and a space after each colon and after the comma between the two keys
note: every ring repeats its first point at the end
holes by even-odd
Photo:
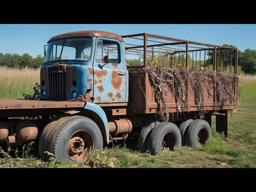
{"type": "Polygon", "coordinates": [[[238,49],[235,47],[148,33],[124,35],[122,38],[125,38],[127,68],[142,68],[151,64],[164,68],[184,67],[236,73],[238,49]],[[137,59],[129,60],[129,56],[137,59]]]}

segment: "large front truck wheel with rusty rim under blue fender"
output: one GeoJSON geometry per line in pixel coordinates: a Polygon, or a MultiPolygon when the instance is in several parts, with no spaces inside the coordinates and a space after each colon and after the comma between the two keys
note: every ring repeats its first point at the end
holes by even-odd
{"type": "Polygon", "coordinates": [[[90,151],[103,148],[103,139],[98,125],[84,116],[71,116],[56,126],[50,134],[48,151],[57,160],[83,162],[90,151]]]}

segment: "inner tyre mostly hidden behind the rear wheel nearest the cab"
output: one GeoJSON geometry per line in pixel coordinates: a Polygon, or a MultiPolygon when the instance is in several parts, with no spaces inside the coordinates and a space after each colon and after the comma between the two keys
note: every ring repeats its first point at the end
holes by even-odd
{"type": "Polygon", "coordinates": [[[152,129],[159,123],[159,121],[148,121],[145,123],[145,126],[142,127],[138,138],[138,149],[141,152],[144,153],[148,149],[148,137],[152,129]]]}

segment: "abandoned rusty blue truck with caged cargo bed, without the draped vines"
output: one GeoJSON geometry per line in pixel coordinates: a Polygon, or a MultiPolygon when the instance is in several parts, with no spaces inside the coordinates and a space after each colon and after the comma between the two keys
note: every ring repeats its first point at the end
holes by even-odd
{"type": "Polygon", "coordinates": [[[138,150],[160,154],[182,144],[204,144],[212,136],[213,115],[216,131],[227,136],[227,112],[236,108],[236,100],[216,110],[214,95],[208,97],[202,119],[192,94],[187,95],[190,110],[180,113],[170,92],[165,97],[174,115],[163,122],[148,74],[131,69],[145,66],[149,56],[167,54],[169,68],[178,62],[187,68],[236,73],[237,53],[234,47],[148,33],[120,36],[86,30],[54,36],[44,46],[40,100],[0,99],[0,144],[35,141],[42,160],[53,154],[57,160],[83,161],[90,151],[133,136],[138,137],[138,150]],[[127,58],[136,55],[138,62],[129,64],[127,58]],[[30,118],[18,118],[24,116],[30,118]]]}

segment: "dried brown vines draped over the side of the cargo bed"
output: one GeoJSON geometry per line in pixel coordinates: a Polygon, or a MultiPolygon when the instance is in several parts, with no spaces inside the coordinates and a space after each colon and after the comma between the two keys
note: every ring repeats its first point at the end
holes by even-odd
{"type": "Polygon", "coordinates": [[[194,103],[198,106],[202,118],[206,112],[205,95],[213,97],[214,110],[217,108],[221,110],[226,106],[226,102],[235,101],[234,84],[238,85],[236,74],[184,68],[169,69],[158,66],[145,66],[142,71],[148,73],[150,84],[154,87],[157,112],[163,121],[168,121],[170,114],[174,115],[166,102],[165,96],[168,92],[174,95],[177,112],[181,113],[189,111],[187,95],[190,87],[191,94],[194,95],[194,103]]]}

